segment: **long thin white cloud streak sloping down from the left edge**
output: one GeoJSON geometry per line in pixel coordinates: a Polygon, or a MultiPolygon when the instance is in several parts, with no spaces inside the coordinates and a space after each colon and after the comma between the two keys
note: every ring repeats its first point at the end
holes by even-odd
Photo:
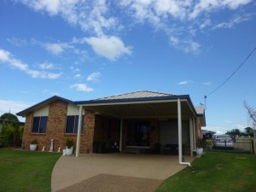
{"type": "Polygon", "coordinates": [[[1,61],[8,63],[10,67],[17,68],[20,71],[31,75],[32,78],[58,79],[61,77],[61,73],[48,73],[45,71],[33,70],[27,64],[15,59],[9,51],[4,49],[0,49],[0,62],[1,61]]]}

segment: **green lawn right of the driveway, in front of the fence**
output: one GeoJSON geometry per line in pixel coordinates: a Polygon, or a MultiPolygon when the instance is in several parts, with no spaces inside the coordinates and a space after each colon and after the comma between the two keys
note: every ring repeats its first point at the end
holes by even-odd
{"type": "Polygon", "coordinates": [[[207,152],[192,166],[167,178],[157,192],[256,191],[255,154],[207,152]]]}

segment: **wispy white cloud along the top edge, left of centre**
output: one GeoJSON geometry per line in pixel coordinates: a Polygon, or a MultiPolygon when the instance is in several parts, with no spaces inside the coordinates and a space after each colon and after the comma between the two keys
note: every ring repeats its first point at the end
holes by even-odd
{"type": "Polygon", "coordinates": [[[115,27],[116,21],[108,17],[108,3],[105,0],[19,0],[36,11],[49,15],[61,15],[72,25],[79,25],[84,31],[94,31],[96,35],[104,34],[115,27]]]}

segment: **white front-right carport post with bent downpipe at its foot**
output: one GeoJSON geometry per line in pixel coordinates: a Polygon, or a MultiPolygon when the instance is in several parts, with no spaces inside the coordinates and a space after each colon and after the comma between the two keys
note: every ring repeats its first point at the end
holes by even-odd
{"type": "Polygon", "coordinates": [[[183,162],[183,148],[182,148],[182,115],[180,99],[177,98],[177,136],[178,136],[178,162],[181,165],[191,166],[189,162],[183,162]]]}

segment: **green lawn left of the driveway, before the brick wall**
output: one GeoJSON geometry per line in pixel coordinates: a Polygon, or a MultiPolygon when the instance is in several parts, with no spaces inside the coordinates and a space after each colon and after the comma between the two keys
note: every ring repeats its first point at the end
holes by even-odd
{"type": "Polygon", "coordinates": [[[0,192],[50,192],[61,154],[0,149],[0,192]]]}

